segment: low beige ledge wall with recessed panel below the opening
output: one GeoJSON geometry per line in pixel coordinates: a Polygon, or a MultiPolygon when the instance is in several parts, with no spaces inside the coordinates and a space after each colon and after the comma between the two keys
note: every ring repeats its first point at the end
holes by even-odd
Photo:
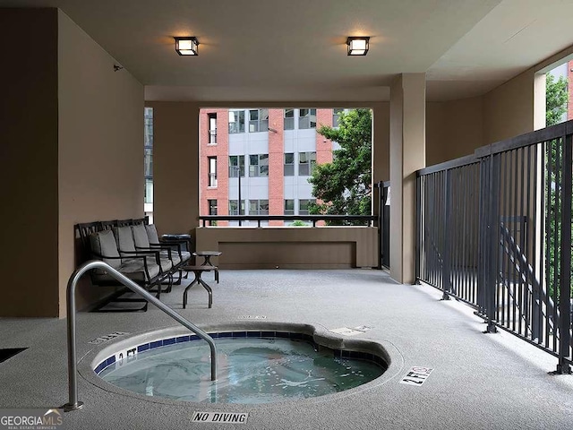
{"type": "Polygon", "coordinates": [[[195,228],[197,250],[222,269],[341,269],[378,265],[378,228],[195,228]]]}

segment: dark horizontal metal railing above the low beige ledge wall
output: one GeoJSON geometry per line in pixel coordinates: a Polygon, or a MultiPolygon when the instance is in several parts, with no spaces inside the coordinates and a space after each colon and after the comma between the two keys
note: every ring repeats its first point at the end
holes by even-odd
{"type": "Polygon", "coordinates": [[[316,227],[317,221],[334,221],[334,222],[348,222],[348,221],[363,221],[367,226],[372,226],[373,221],[377,221],[376,215],[201,215],[199,220],[202,222],[202,227],[206,227],[207,223],[211,225],[214,221],[257,221],[257,227],[261,227],[261,221],[309,221],[312,222],[312,227],[316,227]]]}

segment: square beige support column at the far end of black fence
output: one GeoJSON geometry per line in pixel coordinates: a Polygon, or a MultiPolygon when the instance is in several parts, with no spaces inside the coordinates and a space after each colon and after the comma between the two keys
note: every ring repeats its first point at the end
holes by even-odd
{"type": "Polygon", "coordinates": [[[415,171],[425,167],[425,73],[390,87],[390,276],[415,282],[415,171]]]}

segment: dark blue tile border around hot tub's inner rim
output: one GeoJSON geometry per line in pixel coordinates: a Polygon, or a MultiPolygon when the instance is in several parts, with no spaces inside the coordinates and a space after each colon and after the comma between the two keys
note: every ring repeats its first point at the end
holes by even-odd
{"type": "MultiPolygon", "coordinates": [[[[280,338],[280,339],[290,339],[290,340],[304,340],[312,344],[314,349],[319,348],[319,344],[314,341],[314,338],[310,334],[296,333],[291,331],[221,331],[216,333],[209,333],[210,337],[213,339],[240,339],[240,338],[280,338]]],[[[167,338],[163,340],[154,340],[148,343],[142,343],[137,346],[137,352],[144,352],[150,349],[167,347],[169,345],[175,345],[179,343],[189,342],[193,340],[201,340],[196,334],[189,336],[177,336],[174,338],[167,338]]],[[[360,351],[350,351],[333,349],[334,357],[337,358],[352,358],[370,361],[378,366],[381,366],[384,370],[388,369],[388,364],[386,360],[375,354],[360,352],[360,351]]],[[[98,366],[96,366],[93,371],[96,374],[103,372],[108,366],[115,365],[115,355],[107,357],[102,360],[98,366]]]]}

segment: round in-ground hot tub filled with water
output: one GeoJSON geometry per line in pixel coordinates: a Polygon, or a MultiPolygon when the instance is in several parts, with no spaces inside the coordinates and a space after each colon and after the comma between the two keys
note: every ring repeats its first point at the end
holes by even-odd
{"type": "Polygon", "coordinates": [[[270,403],[353,390],[390,364],[376,342],[317,334],[303,324],[242,325],[208,330],[218,349],[216,382],[208,344],[180,328],[110,345],[91,368],[103,382],[148,399],[270,403]]]}

